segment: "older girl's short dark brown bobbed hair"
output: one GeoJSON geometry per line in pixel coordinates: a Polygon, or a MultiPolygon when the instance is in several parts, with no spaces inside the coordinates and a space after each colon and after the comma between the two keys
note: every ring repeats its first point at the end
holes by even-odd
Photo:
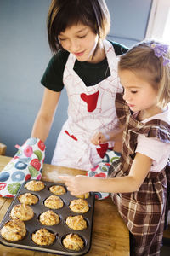
{"type": "Polygon", "coordinates": [[[105,0],[52,0],[47,20],[48,43],[52,52],[61,49],[59,33],[77,23],[90,26],[99,38],[105,38],[111,23],[105,0]]]}

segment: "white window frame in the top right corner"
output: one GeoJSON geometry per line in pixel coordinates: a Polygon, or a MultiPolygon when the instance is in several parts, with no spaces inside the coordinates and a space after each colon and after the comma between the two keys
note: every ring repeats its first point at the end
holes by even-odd
{"type": "Polygon", "coordinates": [[[170,0],[152,0],[150,18],[145,38],[162,39],[169,11],[170,0]]]}

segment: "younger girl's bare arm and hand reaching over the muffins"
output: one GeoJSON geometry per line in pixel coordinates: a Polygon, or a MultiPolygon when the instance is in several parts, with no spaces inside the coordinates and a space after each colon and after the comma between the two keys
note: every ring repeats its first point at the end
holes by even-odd
{"type": "Polygon", "coordinates": [[[144,154],[137,153],[129,175],[125,177],[100,178],[78,175],[60,176],[72,195],[82,195],[89,191],[109,193],[130,193],[139,189],[150,171],[152,160],[144,154]]]}

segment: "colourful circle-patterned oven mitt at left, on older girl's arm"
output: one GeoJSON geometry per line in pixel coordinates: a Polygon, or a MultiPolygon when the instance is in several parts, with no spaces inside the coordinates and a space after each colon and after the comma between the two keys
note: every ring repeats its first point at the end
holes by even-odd
{"type": "Polygon", "coordinates": [[[31,137],[0,172],[0,197],[14,197],[25,181],[33,178],[40,180],[45,158],[45,144],[38,138],[31,137]]]}

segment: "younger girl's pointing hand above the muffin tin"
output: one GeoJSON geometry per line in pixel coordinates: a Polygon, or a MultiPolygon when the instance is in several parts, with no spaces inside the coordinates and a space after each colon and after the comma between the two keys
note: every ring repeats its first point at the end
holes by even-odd
{"type": "Polygon", "coordinates": [[[71,195],[82,195],[90,192],[90,181],[91,177],[84,175],[77,176],[59,176],[62,181],[64,181],[67,189],[71,192],[71,195]]]}

